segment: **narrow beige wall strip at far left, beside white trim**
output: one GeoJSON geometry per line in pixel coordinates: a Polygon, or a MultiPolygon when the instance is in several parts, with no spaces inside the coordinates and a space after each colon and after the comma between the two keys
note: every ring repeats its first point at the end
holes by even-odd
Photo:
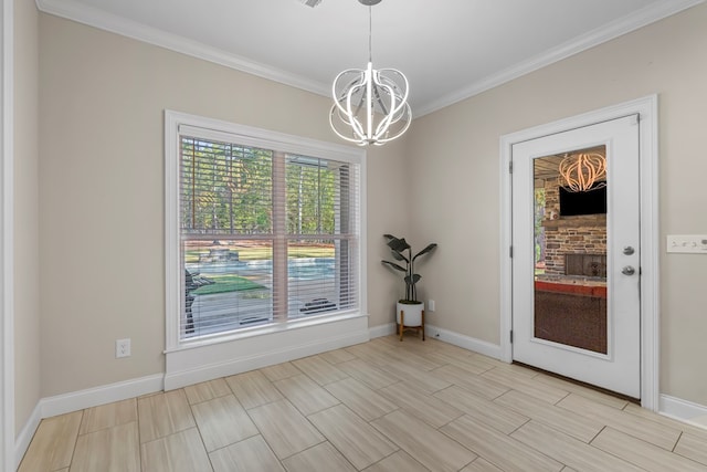
{"type": "Polygon", "coordinates": [[[40,400],[39,22],[34,2],[14,2],[15,432],[40,400]]]}

